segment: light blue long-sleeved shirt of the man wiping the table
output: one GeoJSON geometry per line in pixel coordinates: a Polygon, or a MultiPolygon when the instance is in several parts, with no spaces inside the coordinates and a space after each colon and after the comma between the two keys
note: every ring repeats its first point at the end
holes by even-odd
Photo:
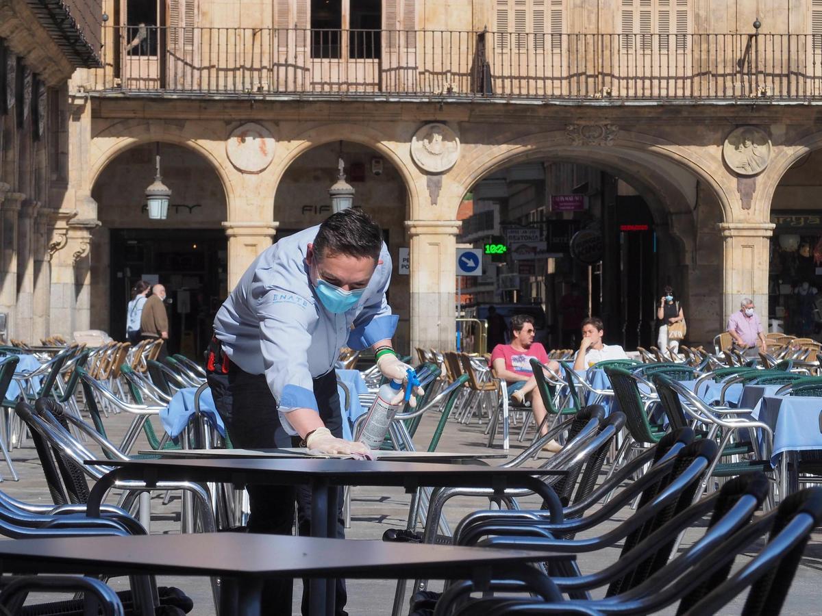
{"type": "Polygon", "coordinates": [[[284,413],[319,410],[312,379],[334,367],[339,348],[363,349],[391,338],[399,319],[386,301],[391,258],[385,243],[356,306],[341,315],[322,306],[305,261],[319,229],[285,237],[257,256],[214,319],[231,361],[249,374],[266,375],[289,434],[295,431],[284,413]]]}

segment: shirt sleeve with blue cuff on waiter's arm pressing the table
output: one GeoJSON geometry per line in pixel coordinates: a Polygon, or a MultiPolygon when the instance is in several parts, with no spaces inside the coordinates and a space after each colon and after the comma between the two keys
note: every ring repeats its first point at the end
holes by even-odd
{"type": "Polygon", "coordinates": [[[318,411],[313,379],[308,368],[308,347],[316,309],[311,301],[293,292],[268,289],[257,301],[260,320],[260,351],[266,382],[277,401],[279,419],[289,434],[296,430],[288,421],[289,411],[311,408],[318,411]]]}

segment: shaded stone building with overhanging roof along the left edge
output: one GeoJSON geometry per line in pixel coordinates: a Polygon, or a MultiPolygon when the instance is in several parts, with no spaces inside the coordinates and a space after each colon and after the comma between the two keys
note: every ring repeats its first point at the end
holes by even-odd
{"type": "Polygon", "coordinates": [[[39,341],[74,321],[65,309],[98,223],[64,200],[78,98],[68,80],[100,66],[101,16],[86,0],[0,1],[0,338],[39,341]]]}

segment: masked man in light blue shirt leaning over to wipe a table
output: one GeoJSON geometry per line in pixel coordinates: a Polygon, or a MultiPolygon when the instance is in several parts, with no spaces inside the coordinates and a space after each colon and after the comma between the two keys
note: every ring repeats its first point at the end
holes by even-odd
{"type": "MultiPolygon", "coordinates": [[[[381,374],[408,388],[411,368],[391,344],[398,317],[386,301],[390,273],[381,228],[361,209],[331,214],[257,256],[215,316],[206,360],[215,407],[235,447],[368,455],[364,444],[342,438],[335,362],[340,347],[371,347],[381,374]]],[[[412,392],[412,404],[420,393],[412,392]]],[[[398,402],[403,395],[400,390],[398,402]]],[[[296,499],[299,534],[310,534],[307,486],[247,489],[249,531],[290,535],[296,499]]],[[[340,508],[342,503],[340,490],[340,508]]],[[[303,584],[303,614],[310,587],[303,584]]],[[[290,580],[267,581],[265,614],[291,614],[292,590],[290,580]]],[[[338,580],[336,614],[346,614],[346,600],[344,581],[338,580]]]]}

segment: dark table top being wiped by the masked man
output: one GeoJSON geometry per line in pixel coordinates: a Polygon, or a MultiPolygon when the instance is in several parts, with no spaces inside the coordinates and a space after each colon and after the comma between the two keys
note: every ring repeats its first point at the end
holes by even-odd
{"type": "Polygon", "coordinates": [[[408,480],[436,481],[441,486],[483,486],[489,480],[526,476],[561,476],[567,471],[533,468],[478,467],[431,462],[383,462],[334,458],[194,458],[152,460],[86,460],[86,464],[118,467],[126,476],[146,478],[156,474],[162,480],[204,480],[259,483],[266,476],[278,484],[307,483],[325,478],[344,485],[404,485],[408,480]]]}

